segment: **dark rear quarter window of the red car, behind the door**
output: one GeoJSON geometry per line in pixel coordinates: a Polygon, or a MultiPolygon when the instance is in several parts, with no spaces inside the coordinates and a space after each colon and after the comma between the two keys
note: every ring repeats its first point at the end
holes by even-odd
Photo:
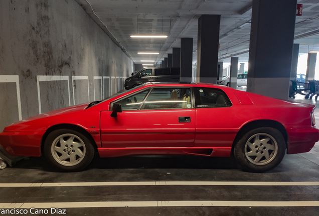
{"type": "Polygon", "coordinates": [[[232,103],[227,94],[217,88],[195,87],[196,108],[225,107],[232,103]]]}

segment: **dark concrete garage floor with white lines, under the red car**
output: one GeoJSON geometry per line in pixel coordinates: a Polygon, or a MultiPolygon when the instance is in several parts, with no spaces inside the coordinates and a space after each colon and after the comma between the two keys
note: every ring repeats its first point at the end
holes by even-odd
{"type": "MultiPolygon", "coordinates": [[[[318,125],[319,108],[315,117],[318,125]]],[[[0,214],[24,203],[24,215],[52,206],[66,215],[318,215],[318,155],[319,142],[266,173],[197,156],[95,157],[84,171],[62,173],[32,157],[0,170],[0,214]]]]}

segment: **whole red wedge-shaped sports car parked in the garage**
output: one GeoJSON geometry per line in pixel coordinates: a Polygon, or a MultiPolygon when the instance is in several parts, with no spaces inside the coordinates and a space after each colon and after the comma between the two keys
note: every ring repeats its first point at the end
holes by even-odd
{"type": "Polygon", "coordinates": [[[64,171],[83,169],[97,150],[101,157],[233,153],[245,170],[263,172],[319,140],[314,108],[222,85],[148,82],[13,123],[0,144],[11,155],[44,154],[64,171]]]}

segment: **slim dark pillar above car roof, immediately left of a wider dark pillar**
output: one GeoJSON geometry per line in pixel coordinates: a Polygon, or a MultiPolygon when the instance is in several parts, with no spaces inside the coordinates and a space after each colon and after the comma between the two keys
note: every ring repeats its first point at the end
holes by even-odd
{"type": "Polygon", "coordinates": [[[193,38],[181,38],[181,77],[180,81],[192,81],[193,38]]]}

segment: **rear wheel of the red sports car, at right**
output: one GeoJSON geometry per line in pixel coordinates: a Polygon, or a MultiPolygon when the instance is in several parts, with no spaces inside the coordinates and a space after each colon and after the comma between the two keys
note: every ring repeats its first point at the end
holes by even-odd
{"type": "Polygon", "coordinates": [[[244,170],[265,172],[285,155],[285,140],[278,129],[259,127],[245,133],[234,146],[234,156],[244,170]]]}

